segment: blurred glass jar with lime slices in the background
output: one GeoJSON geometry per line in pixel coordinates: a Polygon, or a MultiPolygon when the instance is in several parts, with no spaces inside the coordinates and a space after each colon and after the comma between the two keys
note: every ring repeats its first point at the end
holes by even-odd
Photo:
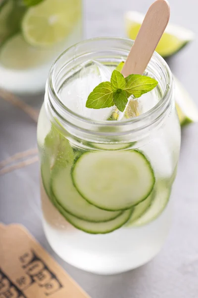
{"type": "Polygon", "coordinates": [[[82,0],[0,1],[0,87],[44,90],[54,59],[82,39],[82,0]]]}

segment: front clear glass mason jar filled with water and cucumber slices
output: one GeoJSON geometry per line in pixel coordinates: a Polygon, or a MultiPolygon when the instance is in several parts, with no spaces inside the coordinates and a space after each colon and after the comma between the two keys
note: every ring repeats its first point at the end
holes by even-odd
{"type": "Polygon", "coordinates": [[[147,263],[171,225],[180,124],[166,62],[154,53],[148,64],[146,74],[158,89],[148,98],[155,104],[143,114],[107,121],[79,109],[76,89],[86,88],[86,67],[95,61],[115,68],[132,45],[128,39],[96,38],[63,52],[50,69],[38,122],[49,244],[66,262],[97,274],[147,263]]]}

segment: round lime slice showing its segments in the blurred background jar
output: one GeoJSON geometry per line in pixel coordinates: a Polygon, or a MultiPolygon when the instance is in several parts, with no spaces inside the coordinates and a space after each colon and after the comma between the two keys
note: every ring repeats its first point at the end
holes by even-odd
{"type": "Polygon", "coordinates": [[[45,0],[30,7],[22,21],[25,40],[46,47],[62,41],[81,16],[81,0],[45,0]]]}

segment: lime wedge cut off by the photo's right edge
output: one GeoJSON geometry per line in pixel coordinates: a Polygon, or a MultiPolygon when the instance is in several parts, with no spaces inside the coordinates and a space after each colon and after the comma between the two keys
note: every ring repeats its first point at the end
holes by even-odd
{"type": "Polygon", "coordinates": [[[192,122],[198,122],[198,108],[196,104],[180,81],[176,77],[174,79],[176,109],[180,124],[186,125],[192,122]]]}

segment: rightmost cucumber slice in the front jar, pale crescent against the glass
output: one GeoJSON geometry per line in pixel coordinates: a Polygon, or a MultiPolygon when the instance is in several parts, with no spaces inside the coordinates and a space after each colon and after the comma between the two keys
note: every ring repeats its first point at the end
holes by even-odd
{"type": "Polygon", "coordinates": [[[158,183],[153,191],[153,199],[150,207],[146,213],[144,213],[143,216],[135,221],[131,226],[141,226],[155,220],[165,209],[170,197],[170,191],[170,187],[168,187],[165,183],[158,183]]]}

